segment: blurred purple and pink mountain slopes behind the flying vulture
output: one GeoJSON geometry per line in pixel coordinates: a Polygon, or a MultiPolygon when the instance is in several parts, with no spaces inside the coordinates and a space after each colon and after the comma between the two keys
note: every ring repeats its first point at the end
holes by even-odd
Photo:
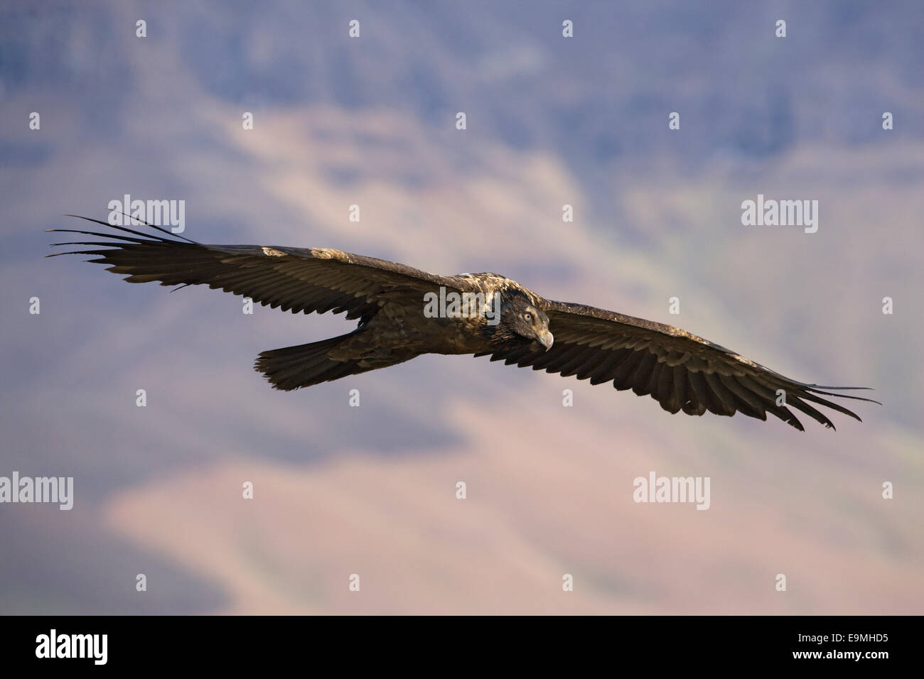
{"type": "Polygon", "coordinates": [[[76,496],[0,505],[0,613],[924,610],[917,0],[0,17],[0,476],[76,496]],[[43,259],[126,193],[185,200],[202,242],[504,273],[884,405],[799,433],[467,357],[274,392],[257,353],[352,324],[43,259]],[[818,232],[743,226],[758,194],[819,200],[818,232]],[[651,470],[711,508],[634,503],[651,470]]]}

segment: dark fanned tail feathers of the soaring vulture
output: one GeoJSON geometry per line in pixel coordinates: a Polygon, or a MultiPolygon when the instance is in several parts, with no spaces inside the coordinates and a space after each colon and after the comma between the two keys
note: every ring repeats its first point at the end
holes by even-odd
{"type": "Polygon", "coordinates": [[[378,366],[363,367],[359,365],[359,360],[339,361],[328,357],[332,349],[353,334],[355,332],[307,345],[263,351],[253,369],[262,372],[274,389],[286,392],[374,370],[378,366]]]}

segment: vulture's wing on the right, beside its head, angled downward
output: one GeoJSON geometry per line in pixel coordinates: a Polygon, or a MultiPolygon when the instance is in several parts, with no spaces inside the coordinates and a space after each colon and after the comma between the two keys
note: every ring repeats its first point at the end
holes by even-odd
{"type": "Polygon", "coordinates": [[[552,348],[535,351],[525,347],[493,354],[492,360],[558,372],[563,377],[574,375],[578,380],[590,379],[591,384],[613,382],[619,390],[651,394],[670,413],[683,410],[687,415],[702,415],[709,410],[732,416],[740,412],[764,420],[771,413],[797,430],[804,428],[790,408],[833,428],[831,419],[811,404],[859,419],[819,394],[871,401],[822,391],[862,387],[796,382],[671,325],[581,304],[543,299],[541,305],[549,316],[552,348]],[[784,392],[785,405],[777,406],[779,390],[784,392]]]}

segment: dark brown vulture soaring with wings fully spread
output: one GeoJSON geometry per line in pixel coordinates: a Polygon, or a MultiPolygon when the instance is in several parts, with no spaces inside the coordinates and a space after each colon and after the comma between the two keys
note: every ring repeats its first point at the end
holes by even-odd
{"type": "MultiPolygon", "coordinates": [[[[79,215],[67,215],[77,217],[79,215]]],[[[254,365],[275,389],[293,390],[403,363],[421,354],[473,354],[520,368],[575,376],[591,384],[650,394],[669,413],[767,413],[804,430],[796,409],[826,427],[815,405],[859,420],[822,396],[878,403],[830,387],[796,382],[680,328],[556,302],[495,273],[436,275],[394,261],[336,249],[203,245],[146,224],[158,233],[102,224],[105,232],[49,231],[105,240],[55,243],[92,255],[129,283],[208,285],[293,313],[346,312],[351,332],[262,352],[254,365]]],[[[133,223],[134,224],[134,223],[133,223]]]]}

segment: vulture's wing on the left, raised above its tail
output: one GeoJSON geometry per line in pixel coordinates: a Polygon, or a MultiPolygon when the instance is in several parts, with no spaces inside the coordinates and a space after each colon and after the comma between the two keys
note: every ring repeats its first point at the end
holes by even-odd
{"type": "MultiPolygon", "coordinates": [[[[79,215],[67,215],[79,216],[79,215]]],[[[93,249],[57,252],[95,255],[88,261],[108,264],[106,271],[126,274],[129,283],[208,285],[250,297],[264,306],[293,313],[346,311],[346,318],[367,320],[388,299],[419,300],[440,285],[457,289],[453,276],[439,276],[394,261],[377,260],[325,248],[282,248],[257,245],[203,245],[185,236],[147,224],[165,236],[126,226],[102,224],[108,232],[49,229],[98,236],[106,240],[55,243],[89,245],[93,249]],[[180,239],[181,238],[181,239],[180,239]]]]}

